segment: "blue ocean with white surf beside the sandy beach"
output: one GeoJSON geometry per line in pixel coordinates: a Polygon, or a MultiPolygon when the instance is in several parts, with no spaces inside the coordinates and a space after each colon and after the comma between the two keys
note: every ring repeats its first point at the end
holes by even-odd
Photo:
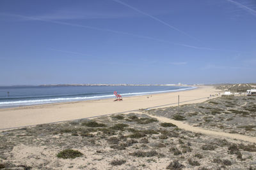
{"type": "MultiPolygon", "coordinates": [[[[177,86],[26,86],[0,87],[0,108],[124,97],[195,89],[177,86]]],[[[124,99],[125,100],[125,99],[124,99]]]]}

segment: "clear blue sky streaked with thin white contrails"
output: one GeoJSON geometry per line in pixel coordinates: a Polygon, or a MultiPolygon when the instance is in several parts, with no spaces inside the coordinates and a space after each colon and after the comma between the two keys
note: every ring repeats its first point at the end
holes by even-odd
{"type": "Polygon", "coordinates": [[[0,85],[247,83],[255,0],[0,1],[0,85]]]}

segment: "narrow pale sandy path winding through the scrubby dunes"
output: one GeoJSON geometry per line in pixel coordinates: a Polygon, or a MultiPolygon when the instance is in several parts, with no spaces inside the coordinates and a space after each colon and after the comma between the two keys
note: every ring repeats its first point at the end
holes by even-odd
{"type": "Polygon", "coordinates": [[[238,140],[242,140],[242,141],[248,141],[248,142],[251,142],[251,143],[256,143],[256,138],[252,137],[252,136],[245,136],[245,135],[241,135],[241,134],[230,134],[230,133],[226,133],[226,132],[210,131],[210,130],[203,129],[201,127],[193,127],[191,125],[184,124],[183,122],[173,120],[171,118],[157,117],[156,115],[148,115],[148,116],[153,117],[153,118],[157,118],[160,122],[167,122],[167,123],[175,124],[180,129],[184,129],[186,131],[202,133],[202,134],[207,134],[207,135],[211,135],[211,136],[218,136],[218,137],[221,137],[221,138],[231,138],[231,139],[238,139],[238,140]]]}

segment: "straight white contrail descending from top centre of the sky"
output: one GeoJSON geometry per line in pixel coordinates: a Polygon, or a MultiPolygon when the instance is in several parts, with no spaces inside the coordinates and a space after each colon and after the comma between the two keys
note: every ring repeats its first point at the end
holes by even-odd
{"type": "Polygon", "coordinates": [[[180,29],[177,29],[176,27],[173,27],[173,26],[170,25],[170,24],[167,24],[166,22],[164,22],[163,20],[160,20],[160,19],[157,18],[157,17],[154,17],[154,16],[152,16],[152,15],[149,15],[148,13],[145,13],[145,12],[143,12],[143,11],[141,11],[141,10],[138,10],[138,8],[135,8],[135,7],[133,7],[133,6],[129,5],[129,4],[126,4],[126,3],[122,2],[122,1],[118,1],[118,0],[113,0],[113,1],[115,1],[116,3],[122,4],[122,5],[124,5],[124,6],[127,6],[128,8],[131,8],[132,10],[137,11],[138,13],[141,13],[142,15],[145,15],[145,16],[147,16],[147,17],[150,17],[150,18],[152,18],[153,20],[156,20],[157,22],[160,22],[161,24],[164,24],[164,25],[170,27],[171,29],[174,29],[174,30],[176,30],[176,31],[179,31],[179,32],[181,32],[182,34],[185,34],[186,36],[189,36],[190,38],[193,38],[193,39],[195,39],[196,41],[198,41],[198,39],[194,38],[193,36],[189,35],[188,33],[184,32],[184,31],[181,31],[180,29]]]}

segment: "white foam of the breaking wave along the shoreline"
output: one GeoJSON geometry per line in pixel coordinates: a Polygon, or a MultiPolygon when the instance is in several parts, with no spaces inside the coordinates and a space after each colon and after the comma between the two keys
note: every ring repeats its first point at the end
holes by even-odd
{"type": "MultiPolygon", "coordinates": [[[[195,89],[196,87],[188,87],[184,89],[175,89],[175,90],[164,90],[164,91],[156,91],[156,92],[135,92],[135,93],[125,93],[121,94],[122,96],[141,96],[143,94],[157,94],[164,92],[177,92],[189,89],[195,89]]],[[[0,102],[0,107],[4,106],[20,106],[20,105],[32,105],[32,104],[47,104],[47,103],[60,103],[60,102],[68,102],[68,101],[84,101],[90,99],[102,99],[108,97],[114,97],[115,95],[105,95],[105,96],[89,96],[89,97],[69,97],[69,98],[54,98],[54,99],[36,99],[36,100],[26,100],[26,101],[4,101],[0,102]]]]}

